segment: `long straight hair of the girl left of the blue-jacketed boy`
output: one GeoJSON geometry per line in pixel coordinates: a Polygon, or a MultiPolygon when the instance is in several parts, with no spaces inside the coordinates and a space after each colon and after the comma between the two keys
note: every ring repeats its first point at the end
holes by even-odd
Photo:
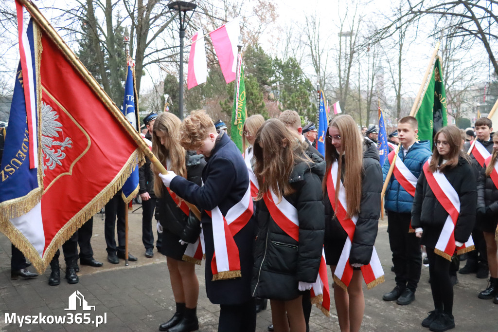
{"type": "MultiPolygon", "coordinates": [[[[349,115],[339,115],[330,123],[330,127],[335,127],[341,135],[342,152],[344,153],[344,189],[346,191],[346,204],[348,216],[352,217],[360,211],[360,201],[362,198],[362,175],[363,175],[363,139],[358,131],[355,120],[349,115]]],[[[327,128],[327,135],[329,134],[327,128]]],[[[322,188],[327,190],[327,176],[332,164],[337,161],[337,178],[341,179],[343,169],[343,159],[340,158],[336,148],[328,139],[325,140],[325,161],[327,162],[327,173],[323,178],[322,188]]],[[[339,192],[340,181],[336,183],[336,192],[339,192]]],[[[336,206],[339,195],[336,195],[336,206]]]]}

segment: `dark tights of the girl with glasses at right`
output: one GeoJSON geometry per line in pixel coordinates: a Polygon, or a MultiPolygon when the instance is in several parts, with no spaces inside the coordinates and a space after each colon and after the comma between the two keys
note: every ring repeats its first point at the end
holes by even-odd
{"type": "Polygon", "coordinates": [[[453,286],[451,286],[449,273],[451,262],[435,254],[433,248],[427,248],[427,258],[429,259],[429,275],[434,309],[452,315],[453,286]]]}

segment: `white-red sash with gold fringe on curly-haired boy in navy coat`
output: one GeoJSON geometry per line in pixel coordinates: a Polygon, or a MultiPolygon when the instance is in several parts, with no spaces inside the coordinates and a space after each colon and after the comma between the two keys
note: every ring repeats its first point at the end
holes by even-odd
{"type": "Polygon", "coordinates": [[[211,211],[205,211],[211,217],[213,224],[215,247],[211,261],[213,281],[241,277],[239,248],[234,235],[247,225],[254,211],[250,185],[241,201],[232,206],[226,216],[221,213],[218,206],[211,211]]]}

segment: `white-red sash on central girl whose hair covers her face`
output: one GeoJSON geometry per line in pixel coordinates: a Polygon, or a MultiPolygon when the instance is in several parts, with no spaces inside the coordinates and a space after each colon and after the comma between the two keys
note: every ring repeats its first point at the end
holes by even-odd
{"type": "MultiPolygon", "coordinates": [[[[280,203],[273,191],[263,195],[264,204],[270,212],[271,218],[287,235],[299,242],[299,219],[297,209],[283,196],[280,203]]],[[[327,264],[325,263],[325,251],[322,247],[320,268],[316,281],[311,286],[311,303],[315,304],[326,316],[330,314],[330,291],[327,277],[327,264]]]]}

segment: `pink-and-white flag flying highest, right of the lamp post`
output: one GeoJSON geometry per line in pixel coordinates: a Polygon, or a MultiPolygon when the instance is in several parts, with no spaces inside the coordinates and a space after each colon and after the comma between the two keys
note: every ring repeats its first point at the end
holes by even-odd
{"type": "Polygon", "coordinates": [[[237,68],[237,44],[241,28],[236,18],[209,33],[218,55],[221,71],[227,83],[235,80],[237,68]]]}

